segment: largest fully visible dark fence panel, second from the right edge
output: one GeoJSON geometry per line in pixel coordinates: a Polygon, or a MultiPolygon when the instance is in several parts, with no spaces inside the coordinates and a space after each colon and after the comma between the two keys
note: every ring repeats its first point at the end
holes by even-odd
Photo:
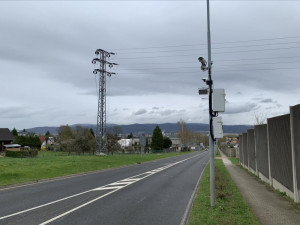
{"type": "Polygon", "coordinates": [[[293,198],[290,115],[269,118],[267,121],[271,183],[274,188],[293,198]]]}

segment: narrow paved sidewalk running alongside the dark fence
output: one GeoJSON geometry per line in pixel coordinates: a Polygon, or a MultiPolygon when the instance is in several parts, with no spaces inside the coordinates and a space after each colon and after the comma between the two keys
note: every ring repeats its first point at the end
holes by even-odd
{"type": "MultiPolygon", "coordinates": [[[[221,151],[220,151],[221,152],[221,151]]],[[[263,225],[299,225],[300,213],[278,194],[267,190],[253,176],[231,163],[221,152],[222,160],[241,195],[263,225]]]]}

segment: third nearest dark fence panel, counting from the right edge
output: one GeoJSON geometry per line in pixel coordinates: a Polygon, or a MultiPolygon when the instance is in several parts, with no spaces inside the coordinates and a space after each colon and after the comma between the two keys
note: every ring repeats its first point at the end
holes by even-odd
{"type": "Polygon", "coordinates": [[[268,130],[267,124],[254,126],[255,149],[258,173],[269,179],[268,130]]]}

